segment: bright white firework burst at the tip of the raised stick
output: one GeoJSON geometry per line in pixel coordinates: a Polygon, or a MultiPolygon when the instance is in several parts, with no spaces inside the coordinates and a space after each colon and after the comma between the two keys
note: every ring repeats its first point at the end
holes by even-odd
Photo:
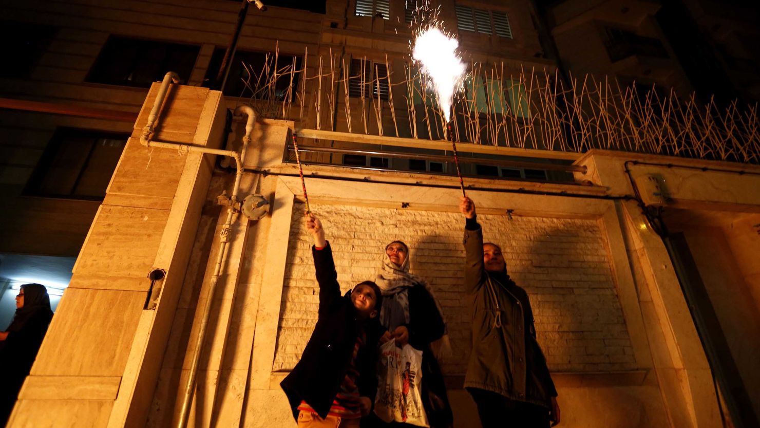
{"type": "Polygon", "coordinates": [[[446,122],[451,118],[454,93],[462,87],[467,66],[457,48],[459,42],[431,25],[417,33],[412,48],[412,58],[420,64],[420,72],[427,75],[430,89],[438,96],[446,122]]]}

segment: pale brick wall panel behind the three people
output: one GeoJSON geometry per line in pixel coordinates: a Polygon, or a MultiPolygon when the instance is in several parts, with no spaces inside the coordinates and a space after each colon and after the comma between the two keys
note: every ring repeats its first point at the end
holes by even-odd
{"type": "MultiPolygon", "coordinates": [[[[274,371],[299,360],[317,319],[311,236],[304,207],[295,204],[283,284],[274,371]]],[[[464,218],[461,214],[313,205],[333,247],[343,292],[378,273],[385,245],[410,246],[411,271],[425,277],[442,303],[453,355],[444,373],[464,374],[470,351],[469,309],[462,290],[464,218]]],[[[606,243],[597,220],[478,216],[486,241],[504,250],[507,269],[530,295],[538,339],[553,371],[635,368],[616,294],[606,243]]]]}

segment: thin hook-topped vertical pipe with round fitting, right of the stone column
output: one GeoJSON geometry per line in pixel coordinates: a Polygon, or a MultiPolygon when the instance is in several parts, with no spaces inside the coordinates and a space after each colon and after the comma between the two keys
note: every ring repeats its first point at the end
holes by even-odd
{"type": "Polygon", "coordinates": [[[185,391],[182,394],[182,407],[180,407],[179,418],[177,419],[177,428],[185,428],[188,423],[190,406],[192,404],[193,395],[195,395],[195,381],[198,377],[198,360],[200,360],[201,350],[203,349],[203,344],[206,338],[206,328],[208,327],[208,319],[211,315],[211,304],[214,301],[217,282],[219,281],[219,277],[223,274],[222,262],[227,243],[230,242],[230,229],[232,228],[233,217],[240,212],[238,191],[240,189],[240,179],[242,179],[242,174],[245,171],[242,162],[245,160],[245,152],[248,150],[248,144],[251,142],[253,122],[256,116],[253,109],[249,106],[239,106],[235,109],[235,114],[236,116],[242,116],[243,114],[248,115],[248,121],[245,122],[245,136],[242,138],[240,153],[238,154],[237,152],[234,152],[236,154],[235,161],[237,163],[237,172],[235,174],[235,184],[233,185],[232,195],[227,198],[225,192],[222,192],[222,195],[217,198],[217,201],[220,204],[227,205],[227,218],[219,234],[219,255],[217,255],[217,263],[214,265],[214,274],[211,276],[211,281],[209,283],[206,304],[203,307],[203,312],[201,312],[201,325],[198,327],[195,350],[193,350],[190,360],[190,372],[188,373],[188,380],[185,383],[185,391]]]}

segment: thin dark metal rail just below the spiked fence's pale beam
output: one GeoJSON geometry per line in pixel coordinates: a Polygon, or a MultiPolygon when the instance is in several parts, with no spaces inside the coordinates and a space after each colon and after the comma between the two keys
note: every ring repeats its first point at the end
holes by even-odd
{"type": "MultiPolygon", "coordinates": [[[[288,151],[293,151],[293,144],[288,144],[288,151]]],[[[435,160],[438,162],[451,162],[452,157],[439,154],[413,154],[397,151],[369,151],[359,149],[340,149],[334,147],[301,146],[298,151],[305,153],[329,153],[329,154],[363,154],[366,156],[394,157],[398,159],[435,160]]],[[[585,165],[561,165],[556,163],[526,162],[521,160],[497,160],[482,159],[479,157],[460,157],[462,163],[478,163],[480,165],[505,166],[508,168],[528,168],[534,170],[560,171],[563,173],[586,173],[585,165]]]]}

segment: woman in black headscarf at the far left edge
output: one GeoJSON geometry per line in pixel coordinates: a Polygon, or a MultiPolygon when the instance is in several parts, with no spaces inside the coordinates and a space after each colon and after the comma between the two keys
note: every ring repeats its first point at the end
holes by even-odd
{"type": "Polygon", "coordinates": [[[0,426],[5,426],[21,385],[29,374],[52,319],[45,286],[24,284],[16,296],[16,314],[0,332],[0,426]]]}

